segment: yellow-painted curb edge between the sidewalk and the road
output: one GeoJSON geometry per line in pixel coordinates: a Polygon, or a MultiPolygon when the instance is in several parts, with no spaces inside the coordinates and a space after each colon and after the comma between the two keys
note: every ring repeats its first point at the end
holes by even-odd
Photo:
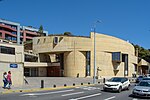
{"type": "MultiPolygon", "coordinates": [[[[57,90],[57,89],[73,88],[73,87],[78,87],[78,86],[93,86],[93,85],[96,85],[96,84],[85,84],[85,85],[76,85],[76,86],[59,86],[59,87],[52,87],[52,88],[33,88],[33,89],[5,90],[3,92],[0,92],[0,94],[37,92],[37,91],[57,90]]],[[[97,85],[100,85],[100,84],[97,84],[97,85]]]]}

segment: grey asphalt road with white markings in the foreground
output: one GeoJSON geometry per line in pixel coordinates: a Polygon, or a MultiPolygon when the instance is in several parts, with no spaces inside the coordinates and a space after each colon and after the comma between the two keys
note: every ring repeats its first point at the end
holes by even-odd
{"type": "Polygon", "coordinates": [[[128,91],[114,93],[104,92],[102,85],[80,86],[32,93],[1,94],[0,100],[143,100],[144,98],[130,96],[133,87],[134,84],[128,91]]]}

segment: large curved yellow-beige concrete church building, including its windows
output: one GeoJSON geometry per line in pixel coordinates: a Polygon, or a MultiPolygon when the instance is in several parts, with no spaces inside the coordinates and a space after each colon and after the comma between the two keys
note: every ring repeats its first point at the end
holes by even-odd
{"type": "Polygon", "coordinates": [[[57,69],[47,68],[49,76],[59,73],[59,76],[93,77],[94,61],[98,77],[131,77],[137,71],[138,61],[131,43],[99,33],[95,33],[95,37],[95,42],[93,32],[90,37],[36,37],[33,39],[33,52],[38,54],[39,62],[60,62],[57,69]]]}

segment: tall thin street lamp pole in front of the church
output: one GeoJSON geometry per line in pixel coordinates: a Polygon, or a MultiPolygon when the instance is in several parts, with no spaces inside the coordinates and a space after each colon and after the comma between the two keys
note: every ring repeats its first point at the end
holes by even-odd
{"type": "Polygon", "coordinates": [[[94,31],[94,77],[93,77],[93,84],[96,83],[96,72],[97,72],[97,67],[96,67],[96,24],[101,23],[100,20],[97,20],[94,25],[93,25],[93,31],[94,31]]]}

